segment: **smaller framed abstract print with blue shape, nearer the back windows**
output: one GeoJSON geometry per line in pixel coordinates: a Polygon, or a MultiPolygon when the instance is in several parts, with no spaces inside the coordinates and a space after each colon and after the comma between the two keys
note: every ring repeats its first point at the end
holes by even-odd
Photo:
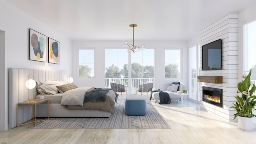
{"type": "Polygon", "coordinates": [[[48,62],[60,64],[60,42],[48,38],[48,62]]]}

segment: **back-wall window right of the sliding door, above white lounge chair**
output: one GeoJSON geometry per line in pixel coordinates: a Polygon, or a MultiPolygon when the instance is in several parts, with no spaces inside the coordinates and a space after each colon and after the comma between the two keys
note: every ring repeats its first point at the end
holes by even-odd
{"type": "Polygon", "coordinates": [[[180,49],[165,50],[165,78],[181,78],[180,51],[180,49]]]}

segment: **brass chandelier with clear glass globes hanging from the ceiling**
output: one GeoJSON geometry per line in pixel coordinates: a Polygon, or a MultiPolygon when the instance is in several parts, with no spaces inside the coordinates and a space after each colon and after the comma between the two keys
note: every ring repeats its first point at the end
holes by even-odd
{"type": "Polygon", "coordinates": [[[128,40],[124,40],[123,44],[124,46],[128,46],[129,48],[127,49],[128,52],[139,52],[140,50],[145,50],[146,49],[146,45],[145,44],[140,44],[140,46],[135,45],[134,46],[134,27],[138,26],[137,24],[130,24],[130,27],[132,27],[132,44],[130,44],[130,42],[128,40]]]}

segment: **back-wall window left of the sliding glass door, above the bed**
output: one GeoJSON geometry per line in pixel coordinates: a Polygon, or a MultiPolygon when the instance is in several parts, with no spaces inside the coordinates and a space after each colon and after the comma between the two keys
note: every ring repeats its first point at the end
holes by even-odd
{"type": "Polygon", "coordinates": [[[94,49],[79,49],[79,78],[94,78],[94,49]]]}

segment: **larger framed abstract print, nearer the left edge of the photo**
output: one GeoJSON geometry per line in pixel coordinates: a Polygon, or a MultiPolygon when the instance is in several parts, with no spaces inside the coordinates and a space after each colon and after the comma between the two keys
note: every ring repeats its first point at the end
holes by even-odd
{"type": "Polygon", "coordinates": [[[29,29],[30,34],[30,60],[46,62],[46,36],[29,29]]]}

